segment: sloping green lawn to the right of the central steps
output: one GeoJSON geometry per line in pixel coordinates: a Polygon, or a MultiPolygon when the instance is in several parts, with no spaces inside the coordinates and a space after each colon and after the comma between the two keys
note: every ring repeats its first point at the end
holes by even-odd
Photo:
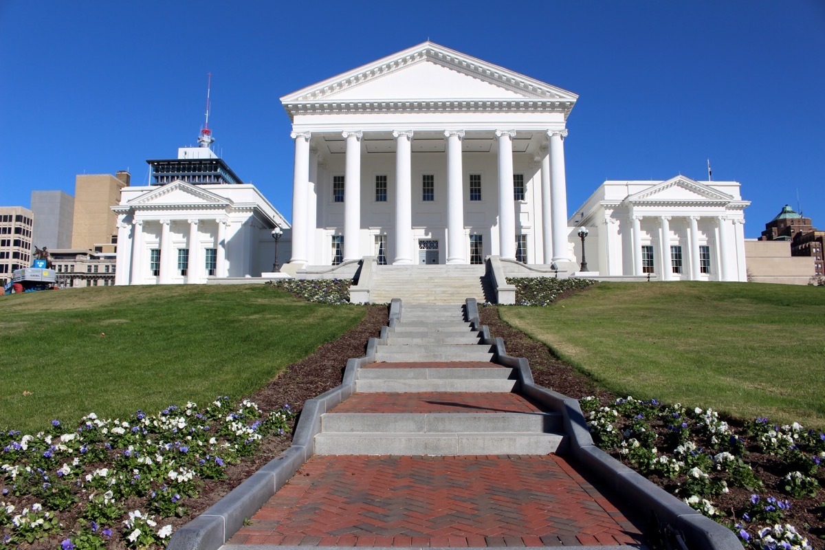
{"type": "Polygon", "coordinates": [[[601,283],[499,312],[615,393],[825,428],[825,289],[601,283]]]}

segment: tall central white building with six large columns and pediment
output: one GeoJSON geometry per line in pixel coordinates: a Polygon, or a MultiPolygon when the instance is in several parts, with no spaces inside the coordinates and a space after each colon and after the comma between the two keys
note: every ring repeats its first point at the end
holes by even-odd
{"type": "Polygon", "coordinates": [[[282,97],[295,139],[285,270],[568,261],[576,99],[431,42],[282,97]]]}

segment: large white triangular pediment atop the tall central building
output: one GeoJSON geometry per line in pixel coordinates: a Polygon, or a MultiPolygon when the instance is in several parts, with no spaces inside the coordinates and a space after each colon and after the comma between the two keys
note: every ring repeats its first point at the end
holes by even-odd
{"type": "Polygon", "coordinates": [[[569,110],[577,95],[453,49],[424,42],[281,97],[294,114],[306,103],[530,101],[569,110]]]}

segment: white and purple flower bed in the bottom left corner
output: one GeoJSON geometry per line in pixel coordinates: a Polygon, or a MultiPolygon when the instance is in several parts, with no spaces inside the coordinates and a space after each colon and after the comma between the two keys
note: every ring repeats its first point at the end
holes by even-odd
{"type": "Polygon", "coordinates": [[[164,519],[186,516],[205,479],[283,435],[289,406],[262,415],[220,397],[209,407],[137,411],[126,420],[53,421],[36,435],[0,434],[0,550],[163,548],[164,519]]]}

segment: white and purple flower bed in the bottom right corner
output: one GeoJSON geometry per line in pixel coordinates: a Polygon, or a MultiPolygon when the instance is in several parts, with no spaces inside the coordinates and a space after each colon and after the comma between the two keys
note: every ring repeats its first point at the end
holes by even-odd
{"type": "Polygon", "coordinates": [[[745,548],[818,548],[825,434],[757,418],[731,425],[719,414],[633,397],[579,400],[601,449],[728,526],[745,548]]]}

